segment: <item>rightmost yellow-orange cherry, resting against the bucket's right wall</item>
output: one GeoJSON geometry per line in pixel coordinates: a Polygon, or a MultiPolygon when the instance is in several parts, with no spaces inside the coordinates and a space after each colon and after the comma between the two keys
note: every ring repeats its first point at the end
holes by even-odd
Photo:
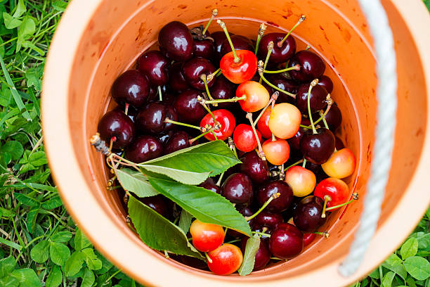
{"type": "Polygon", "coordinates": [[[349,148],[342,148],[334,152],[321,167],[329,177],[343,179],[356,170],[356,156],[349,148]]]}

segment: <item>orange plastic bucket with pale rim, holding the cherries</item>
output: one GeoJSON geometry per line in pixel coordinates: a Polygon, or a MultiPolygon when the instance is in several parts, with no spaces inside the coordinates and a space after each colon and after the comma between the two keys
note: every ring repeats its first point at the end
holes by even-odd
{"type": "MultiPolygon", "coordinates": [[[[315,241],[298,257],[249,276],[216,276],[167,259],[141,242],[126,224],[122,198],[107,191],[103,157],[89,139],[113,106],[112,82],[155,46],[157,33],[171,20],[197,26],[218,8],[230,32],[255,39],[260,23],[268,25],[266,33],[286,31],[304,14],[306,22],[292,33],[297,51],[309,45],[327,63],[332,98],[343,115],[339,136],[358,160],[348,186],[363,198],[377,77],[367,20],[353,0],[72,1],[48,53],[42,124],[51,172],[79,228],[105,257],[147,286],[345,286],[371,272],[410,234],[430,203],[430,18],[420,0],[382,4],[393,30],[398,72],[393,163],[377,231],[352,276],[341,276],[338,267],[358,228],[363,200],[334,212],[325,224],[330,238],[315,241]]],[[[220,28],[212,24],[209,30],[220,28]]]]}

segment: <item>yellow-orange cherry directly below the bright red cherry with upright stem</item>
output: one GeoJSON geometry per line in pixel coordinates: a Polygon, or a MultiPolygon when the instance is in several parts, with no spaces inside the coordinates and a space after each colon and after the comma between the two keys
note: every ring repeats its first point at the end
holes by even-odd
{"type": "Polygon", "coordinates": [[[237,87],[236,90],[237,98],[242,99],[239,102],[240,107],[245,112],[254,113],[257,110],[264,108],[271,96],[268,94],[266,88],[263,87],[259,82],[247,81],[237,87]]]}

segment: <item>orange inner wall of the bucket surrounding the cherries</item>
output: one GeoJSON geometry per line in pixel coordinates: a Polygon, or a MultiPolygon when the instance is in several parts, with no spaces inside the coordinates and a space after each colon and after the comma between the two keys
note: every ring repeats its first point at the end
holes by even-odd
{"type": "MultiPolygon", "coordinates": [[[[400,18],[389,1],[383,3],[390,19],[400,18]]],[[[212,8],[219,9],[219,18],[225,20],[230,32],[251,39],[256,37],[261,22],[268,24],[266,32],[287,30],[301,14],[306,15],[306,21],[293,35],[297,39],[298,50],[308,44],[327,63],[326,75],[334,82],[332,97],[343,116],[339,134],[358,159],[356,172],[347,182],[351,192],[358,192],[361,198],[365,196],[374,142],[377,79],[372,40],[356,1],[219,0],[209,3],[197,0],[124,0],[119,3],[105,0],[93,15],[75,57],[70,80],[70,125],[74,129],[74,153],[79,155],[79,164],[86,171],[91,192],[100,198],[105,212],[115,218],[118,226],[131,237],[136,235],[124,222],[121,198],[105,189],[106,174],[101,168],[104,166],[103,158],[89,146],[89,138],[96,133],[98,120],[110,105],[112,82],[156,42],[160,28],[171,20],[181,20],[191,26],[204,23],[212,8]]],[[[410,32],[401,20],[391,21],[391,25],[398,60],[398,127],[380,224],[389,216],[398,198],[403,196],[415,170],[414,159],[422,151],[425,130],[417,123],[425,122],[427,113],[424,108],[424,79],[422,74],[414,72],[414,69],[421,69],[421,64],[410,32]]],[[[214,22],[209,30],[220,29],[214,22]]],[[[316,241],[293,260],[254,272],[250,277],[263,280],[266,276],[297,275],[344,256],[361,210],[362,200],[358,200],[348,208],[334,212],[325,226],[330,231],[330,238],[316,241]]],[[[141,245],[152,252],[143,243],[141,245]]],[[[166,261],[185,268],[173,260],[166,261]]],[[[213,276],[201,273],[202,276],[213,276]]],[[[248,279],[230,276],[226,280],[248,279]]]]}

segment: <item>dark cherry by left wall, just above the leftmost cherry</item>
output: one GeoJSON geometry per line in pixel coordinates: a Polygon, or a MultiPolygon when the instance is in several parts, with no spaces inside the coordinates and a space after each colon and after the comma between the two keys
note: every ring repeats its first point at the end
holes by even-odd
{"type": "Polygon", "coordinates": [[[127,70],[115,79],[111,91],[112,98],[120,105],[129,103],[139,108],[148,101],[150,82],[138,70],[127,70]]]}

